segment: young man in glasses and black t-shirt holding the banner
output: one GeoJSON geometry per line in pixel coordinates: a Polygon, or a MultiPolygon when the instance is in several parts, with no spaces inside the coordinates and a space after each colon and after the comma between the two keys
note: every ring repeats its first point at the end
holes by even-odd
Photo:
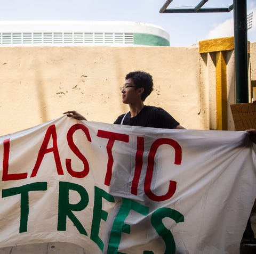
{"type": "MultiPolygon", "coordinates": [[[[144,105],[144,101],[152,91],[153,79],[149,73],[143,71],[128,73],[121,92],[122,101],[129,104],[130,111],[119,116],[114,124],[185,129],[164,109],[144,105]]],[[[78,120],[86,120],[76,111],[67,111],[65,114],[78,120]]]]}

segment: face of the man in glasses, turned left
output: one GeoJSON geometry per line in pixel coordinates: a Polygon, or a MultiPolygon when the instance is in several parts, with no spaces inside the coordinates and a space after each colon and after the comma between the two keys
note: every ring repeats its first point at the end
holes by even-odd
{"type": "Polygon", "coordinates": [[[140,98],[140,95],[138,95],[138,90],[135,88],[134,82],[131,78],[125,80],[121,92],[122,101],[125,104],[133,104],[140,98]]]}

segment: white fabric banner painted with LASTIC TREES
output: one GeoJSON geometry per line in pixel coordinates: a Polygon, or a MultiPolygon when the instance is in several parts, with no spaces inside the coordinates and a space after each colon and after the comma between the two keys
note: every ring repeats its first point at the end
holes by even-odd
{"type": "Polygon", "coordinates": [[[256,196],[246,132],[66,116],[0,137],[0,247],[86,253],[239,253],[256,196]]]}

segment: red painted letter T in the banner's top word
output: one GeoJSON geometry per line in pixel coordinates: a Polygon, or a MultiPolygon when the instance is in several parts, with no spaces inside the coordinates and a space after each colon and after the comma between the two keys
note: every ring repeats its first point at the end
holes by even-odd
{"type": "Polygon", "coordinates": [[[97,136],[109,139],[108,144],[107,144],[108,165],[107,165],[107,173],[106,173],[106,177],[105,177],[105,184],[107,186],[109,186],[111,177],[112,177],[112,167],[113,167],[113,163],[114,163],[114,159],[113,159],[113,155],[112,155],[113,145],[115,143],[115,140],[128,143],[129,135],[119,134],[119,133],[114,133],[114,132],[106,132],[106,130],[98,130],[97,136]]]}

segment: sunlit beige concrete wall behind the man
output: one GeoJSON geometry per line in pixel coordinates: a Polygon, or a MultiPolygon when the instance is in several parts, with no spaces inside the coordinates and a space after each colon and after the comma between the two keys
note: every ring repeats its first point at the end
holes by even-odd
{"type": "Polygon", "coordinates": [[[182,126],[207,129],[201,110],[197,47],[1,47],[0,135],[77,110],[113,123],[128,110],[119,87],[127,72],[151,73],[161,106],[182,126]]]}

